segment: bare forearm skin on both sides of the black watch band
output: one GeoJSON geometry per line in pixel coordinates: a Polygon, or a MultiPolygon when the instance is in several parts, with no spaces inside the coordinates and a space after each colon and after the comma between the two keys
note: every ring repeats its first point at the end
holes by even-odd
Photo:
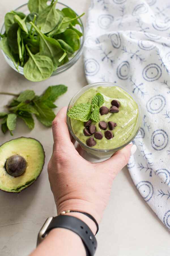
{"type": "MultiPolygon", "coordinates": [[[[86,215],[77,212],[70,212],[67,215],[81,219],[95,234],[96,225],[86,215]]],[[[54,228],[30,256],[46,255],[86,256],[86,251],[81,238],[76,233],[65,228],[54,228]]]]}

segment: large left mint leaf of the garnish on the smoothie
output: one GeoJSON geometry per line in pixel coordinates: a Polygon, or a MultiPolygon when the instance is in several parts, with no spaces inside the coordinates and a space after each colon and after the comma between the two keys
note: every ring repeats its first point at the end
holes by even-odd
{"type": "Polygon", "coordinates": [[[69,110],[67,115],[70,118],[87,122],[90,118],[91,113],[92,113],[92,105],[90,102],[88,102],[88,103],[80,103],[73,106],[69,110]]]}

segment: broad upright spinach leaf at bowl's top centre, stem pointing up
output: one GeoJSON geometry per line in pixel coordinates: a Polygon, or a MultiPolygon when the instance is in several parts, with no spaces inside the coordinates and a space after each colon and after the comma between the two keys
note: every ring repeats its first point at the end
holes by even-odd
{"type": "Polygon", "coordinates": [[[57,1],[45,8],[37,19],[37,26],[41,26],[41,32],[44,34],[53,30],[60,21],[60,15],[55,8],[56,3],[57,1]]]}

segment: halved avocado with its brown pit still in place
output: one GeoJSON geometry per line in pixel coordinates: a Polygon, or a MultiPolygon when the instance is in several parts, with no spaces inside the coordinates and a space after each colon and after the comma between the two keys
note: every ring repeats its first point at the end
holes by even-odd
{"type": "Polygon", "coordinates": [[[39,177],[44,158],[44,149],[36,139],[20,137],[2,144],[0,189],[19,193],[30,186],[39,177]]]}

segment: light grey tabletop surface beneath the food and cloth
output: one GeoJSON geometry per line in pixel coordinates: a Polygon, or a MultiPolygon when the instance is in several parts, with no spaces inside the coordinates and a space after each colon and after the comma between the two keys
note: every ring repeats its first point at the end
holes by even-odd
{"type": "MultiPolygon", "coordinates": [[[[86,12],[90,0],[63,0],[78,14],[86,12]]],[[[22,0],[1,2],[0,24],[5,13],[22,5],[22,0]]],[[[87,15],[83,17],[85,21],[87,15]]],[[[83,59],[64,73],[50,77],[43,82],[30,82],[24,76],[12,70],[0,52],[0,91],[20,93],[34,90],[40,95],[49,85],[65,84],[66,94],[57,101],[56,113],[69,103],[71,97],[86,85],[83,59]]],[[[0,112],[11,96],[0,95],[0,112]]],[[[0,191],[0,255],[26,256],[36,245],[37,234],[48,216],[56,215],[56,207],[48,181],[47,164],[52,154],[52,130],[35,119],[35,128],[30,131],[24,122],[18,121],[14,136],[3,135],[0,131],[0,144],[20,136],[38,139],[45,150],[45,165],[39,179],[19,194],[0,191]]],[[[90,158],[84,154],[87,160],[90,158]]],[[[167,202],[168,203],[168,202],[167,202]]],[[[170,234],[154,212],[139,195],[127,168],[124,168],[114,180],[109,204],[97,235],[98,248],[96,256],[168,256],[170,234]]]]}

